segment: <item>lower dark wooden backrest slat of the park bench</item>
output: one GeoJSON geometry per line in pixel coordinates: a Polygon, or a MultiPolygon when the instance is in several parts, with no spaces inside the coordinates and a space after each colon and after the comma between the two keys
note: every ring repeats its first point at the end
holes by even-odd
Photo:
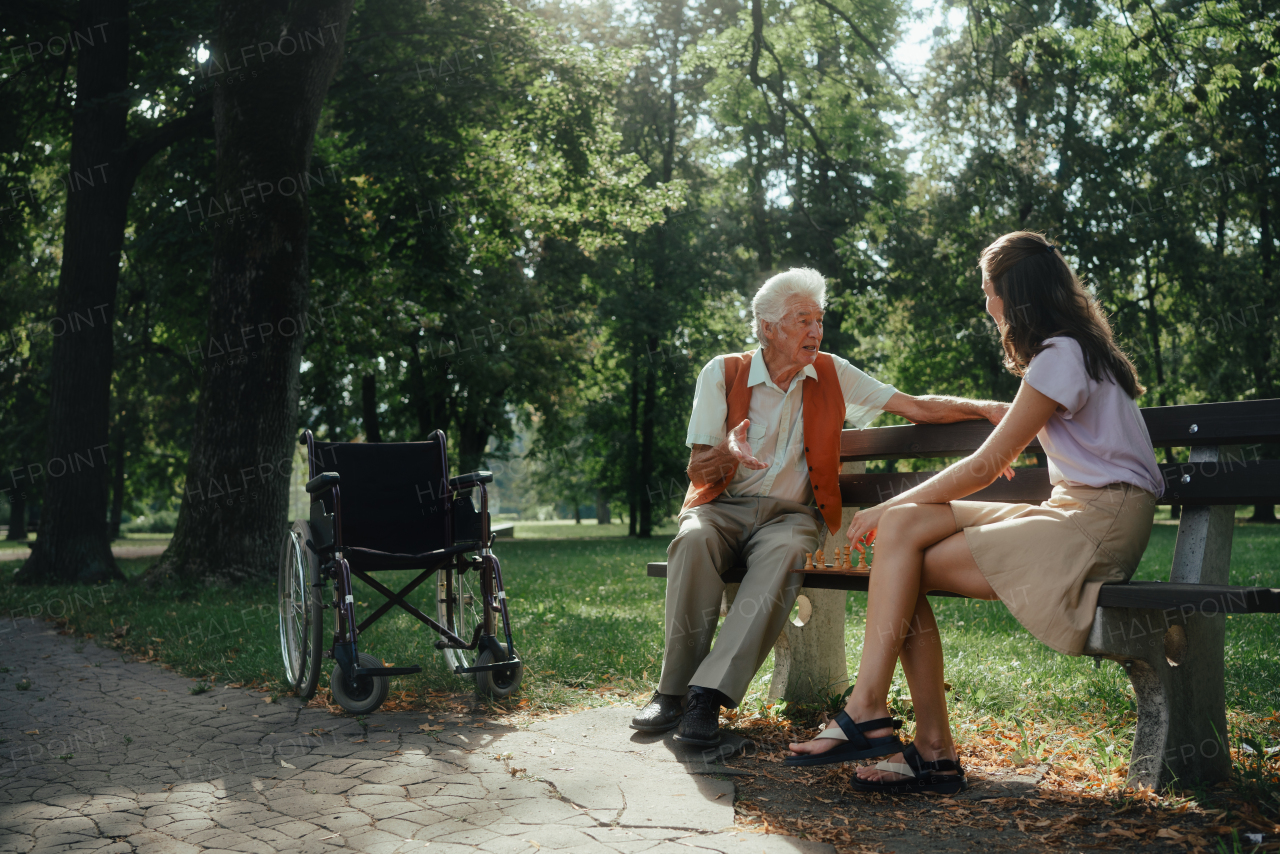
{"type": "MultiPolygon", "coordinates": [[[[1267,504],[1280,502],[1280,461],[1228,458],[1160,466],[1165,476],[1161,504],[1267,504]],[[1183,478],[1189,478],[1183,483],[1183,478]]],[[[870,507],[924,483],[937,471],[840,475],[846,507],[870,507]]],[[[1000,478],[968,501],[1038,503],[1052,487],[1048,469],[1018,469],[1012,480],[1000,478]]]]}

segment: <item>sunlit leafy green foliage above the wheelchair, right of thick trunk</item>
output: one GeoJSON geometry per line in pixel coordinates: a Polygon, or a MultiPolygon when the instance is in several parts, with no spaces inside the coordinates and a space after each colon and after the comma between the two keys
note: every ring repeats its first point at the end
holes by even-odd
{"type": "Polygon", "coordinates": [[[353,23],[319,141],[346,178],[316,209],[316,298],[337,325],[306,355],[307,421],[362,433],[351,378],[371,374],[384,439],[445,429],[471,471],[515,405],[553,410],[579,371],[594,305],[571,270],[535,275],[545,256],[600,252],[672,196],[618,151],[622,52],[563,45],[500,3],[381,4],[353,23]]]}

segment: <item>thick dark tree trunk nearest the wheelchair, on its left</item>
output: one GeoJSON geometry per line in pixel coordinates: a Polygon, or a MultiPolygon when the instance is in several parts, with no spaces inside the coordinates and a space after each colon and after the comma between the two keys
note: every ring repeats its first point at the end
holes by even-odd
{"type": "Polygon", "coordinates": [[[250,210],[215,232],[209,333],[243,341],[253,357],[218,360],[201,376],[178,526],[148,581],[227,585],[275,575],[310,296],[305,173],[352,4],[223,0],[219,9],[215,58],[232,61],[246,46],[285,38],[305,50],[271,55],[269,72],[248,86],[214,91],[216,200],[250,210]]]}

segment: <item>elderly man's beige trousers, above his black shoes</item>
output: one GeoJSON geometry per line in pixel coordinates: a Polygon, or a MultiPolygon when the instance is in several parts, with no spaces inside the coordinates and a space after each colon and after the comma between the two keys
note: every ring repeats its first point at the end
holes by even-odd
{"type": "Polygon", "coordinates": [[[680,515],[667,548],[667,640],[658,691],[684,695],[690,685],[714,688],[737,705],[768,658],[795,604],[805,552],[824,530],[822,513],[794,501],[727,498],[680,515]],[[746,577],[724,617],[716,647],[724,583],[721,574],[746,563],[746,577]]]}

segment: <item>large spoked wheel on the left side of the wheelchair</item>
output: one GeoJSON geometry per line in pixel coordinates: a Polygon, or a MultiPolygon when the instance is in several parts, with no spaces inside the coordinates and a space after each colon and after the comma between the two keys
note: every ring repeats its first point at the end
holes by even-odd
{"type": "MultiPolygon", "coordinates": [[[[320,561],[307,548],[311,525],[297,520],[280,544],[280,574],[276,583],[280,609],[280,656],[284,673],[305,700],[316,693],[320,680],[320,561]]],[[[314,542],[314,540],[312,540],[314,542]]]]}

